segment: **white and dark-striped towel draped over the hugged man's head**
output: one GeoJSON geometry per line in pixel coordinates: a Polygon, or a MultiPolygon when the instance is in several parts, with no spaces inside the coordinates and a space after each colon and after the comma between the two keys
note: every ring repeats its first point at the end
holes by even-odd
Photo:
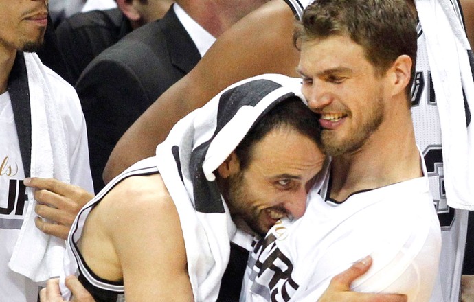
{"type": "Polygon", "coordinates": [[[262,115],[293,95],[303,99],[301,79],[267,74],[242,80],[181,119],[157,146],[157,167],[181,220],[195,301],[216,301],[229,241],[245,243],[237,239],[242,233],[214,171],[262,115]]]}

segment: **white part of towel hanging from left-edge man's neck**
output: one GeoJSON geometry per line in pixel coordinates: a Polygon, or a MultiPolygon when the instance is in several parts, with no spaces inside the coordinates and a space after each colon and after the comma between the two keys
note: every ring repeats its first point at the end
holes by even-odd
{"type": "MultiPolygon", "coordinates": [[[[32,177],[56,178],[70,183],[68,146],[59,108],[51,98],[51,86],[44,67],[36,54],[24,54],[30,89],[32,112],[32,177]]],[[[33,281],[45,281],[60,274],[65,244],[64,240],[46,235],[35,224],[32,189],[28,196],[25,220],[8,266],[33,281]]]]}

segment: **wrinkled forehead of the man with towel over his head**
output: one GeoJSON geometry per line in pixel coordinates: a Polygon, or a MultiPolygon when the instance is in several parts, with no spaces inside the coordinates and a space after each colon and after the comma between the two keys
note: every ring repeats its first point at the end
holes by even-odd
{"type": "Polygon", "coordinates": [[[293,128],[282,126],[271,130],[253,146],[249,169],[256,169],[268,176],[311,174],[320,169],[321,161],[324,161],[324,154],[313,139],[293,128]]]}

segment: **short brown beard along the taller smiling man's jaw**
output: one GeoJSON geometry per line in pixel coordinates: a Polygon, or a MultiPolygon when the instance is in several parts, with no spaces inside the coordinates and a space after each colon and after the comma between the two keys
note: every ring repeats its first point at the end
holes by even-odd
{"type": "Polygon", "coordinates": [[[332,157],[356,152],[363,146],[370,135],[379,128],[383,121],[383,111],[383,100],[379,98],[378,102],[372,106],[369,112],[368,121],[344,141],[337,141],[337,137],[334,136],[332,130],[322,129],[318,137],[321,150],[324,154],[332,157]]]}

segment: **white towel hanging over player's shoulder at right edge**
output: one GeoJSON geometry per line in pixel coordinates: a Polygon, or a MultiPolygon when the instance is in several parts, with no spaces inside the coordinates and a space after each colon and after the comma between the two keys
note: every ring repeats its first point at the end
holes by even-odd
{"type": "Polygon", "coordinates": [[[451,1],[416,0],[415,4],[440,116],[447,202],[450,207],[474,210],[473,123],[467,126],[469,109],[474,108],[471,47],[451,1]]]}

